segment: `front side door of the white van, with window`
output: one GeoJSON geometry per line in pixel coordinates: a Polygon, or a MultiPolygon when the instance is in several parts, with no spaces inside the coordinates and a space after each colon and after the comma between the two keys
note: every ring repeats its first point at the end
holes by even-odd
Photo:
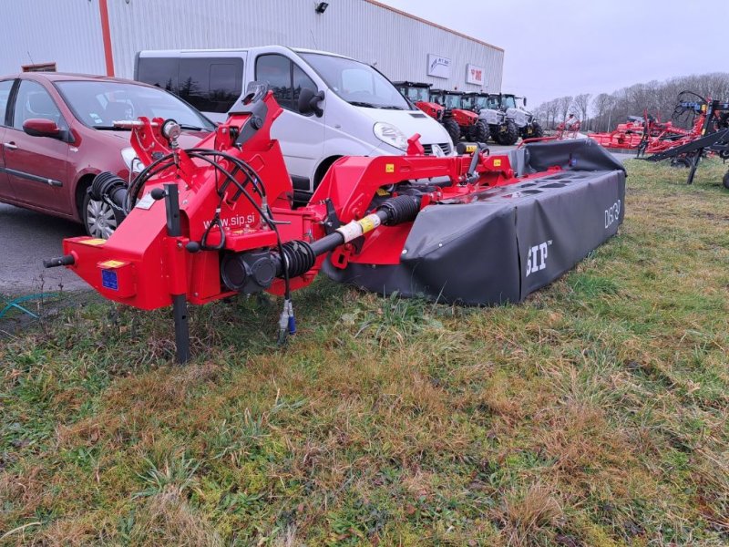
{"type": "Polygon", "coordinates": [[[303,88],[317,93],[317,86],[292,59],[272,53],[255,59],[255,79],[268,83],[283,108],[271,132],[273,139],[281,144],[293,187],[310,191],[314,166],[322,159],[324,125],[322,118],[301,114],[297,104],[303,88]]]}

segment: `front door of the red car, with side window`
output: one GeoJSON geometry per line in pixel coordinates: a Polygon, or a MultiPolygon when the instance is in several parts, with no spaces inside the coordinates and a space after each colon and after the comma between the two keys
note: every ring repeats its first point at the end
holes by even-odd
{"type": "Polygon", "coordinates": [[[15,201],[52,212],[70,214],[73,192],[68,188],[69,145],[64,139],[32,137],[23,130],[27,119],[51,119],[66,135],[68,124],[48,90],[33,80],[21,80],[15,92],[12,123],[5,129],[5,174],[15,201]]]}

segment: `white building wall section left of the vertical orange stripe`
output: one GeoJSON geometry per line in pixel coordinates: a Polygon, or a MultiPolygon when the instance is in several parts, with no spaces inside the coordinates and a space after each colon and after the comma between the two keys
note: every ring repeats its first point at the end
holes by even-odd
{"type": "Polygon", "coordinates": [[[0,21],[0,76],[46,62],[106,74],[98,0],[0,0],[0,21]]]}

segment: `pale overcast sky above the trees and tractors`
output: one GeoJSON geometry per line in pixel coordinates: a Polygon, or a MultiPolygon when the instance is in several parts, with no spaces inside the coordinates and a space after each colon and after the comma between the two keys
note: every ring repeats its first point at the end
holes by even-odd
{"type": "Polygon", "coordinates": [[[502,91],[529,107],[729,71],[727,0],[379,1],[502,47],[502,91]]]}

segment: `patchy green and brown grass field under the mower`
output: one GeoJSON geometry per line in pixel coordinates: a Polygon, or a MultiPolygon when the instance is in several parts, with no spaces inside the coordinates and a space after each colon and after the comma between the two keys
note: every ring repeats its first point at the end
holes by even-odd
{"type": "MultiPolygon", "coordinates": [[[[320,279],[0,338],[0,544],[726,545],[725,167],[628,162],[619,235],[522,305],[320,279]]],[[[2,324],[0,324],[2,329],[2,324]]]]}

